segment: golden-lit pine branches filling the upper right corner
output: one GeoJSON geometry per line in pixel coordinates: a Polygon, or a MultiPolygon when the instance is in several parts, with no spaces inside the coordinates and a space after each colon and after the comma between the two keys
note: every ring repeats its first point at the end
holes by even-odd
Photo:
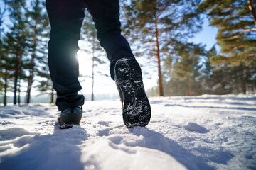
{"type": "Polygon", "coordinates": [[[199,6],[210,16],[210,25],[218,28],[217,41],[223,55],[213,64],[252,66],[256,64],[256,11],[254,0],[205,0],[199,6]]]}

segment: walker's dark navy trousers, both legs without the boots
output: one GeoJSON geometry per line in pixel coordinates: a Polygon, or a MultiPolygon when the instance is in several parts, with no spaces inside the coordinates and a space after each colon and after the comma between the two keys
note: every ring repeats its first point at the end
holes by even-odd
{"type": "Polygon", "coordinates": [[[97,38],[110,60],[110,75],[114,79],[114,64],[122,57],[134,57],[129,43],[121,35],[119,0],[46,0],[50,19],[48,64],[53,87],[57,91],[56,105],[65,108],[82,106],[84,96],[78,81],[79,67],[75,57],[79,50],[80,29],[87,8],[95,22],[97,38]]]}

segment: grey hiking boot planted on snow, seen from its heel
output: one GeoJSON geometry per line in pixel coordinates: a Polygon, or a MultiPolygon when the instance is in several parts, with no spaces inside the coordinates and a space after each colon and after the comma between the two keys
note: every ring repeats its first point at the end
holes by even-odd
{"type": "Polygon", "coordinates": [[[58,115],[58,123],[60,129],[72,128],[73,125],[80,125],[82,118],[82,106],[67,108],[58,115]]]}

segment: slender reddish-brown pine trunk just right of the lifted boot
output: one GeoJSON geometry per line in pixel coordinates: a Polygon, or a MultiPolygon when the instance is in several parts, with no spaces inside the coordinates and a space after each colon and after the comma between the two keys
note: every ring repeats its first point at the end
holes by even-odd
{"type": "Polygon", "coordinates": [[[163,78],[161,74],[161,58],[160,58],[160,50],[159,50],[159,30],[157,28],[157,21],[156,21],[155,28],[156,28],[156,57],[157,57],[158,72],[159,72],[159,96],[164,96],[163,78]]]}

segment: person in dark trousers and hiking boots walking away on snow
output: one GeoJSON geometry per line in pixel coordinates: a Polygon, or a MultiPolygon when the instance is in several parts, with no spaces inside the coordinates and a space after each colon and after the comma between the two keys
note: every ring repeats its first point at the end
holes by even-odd
{"type": "Polygon", "coordinates": [[[85,8],[92,15],[97,39],[110,60],[110,75],[116,82],[122,102],[122,115],[127,128],[147,125],[151,118],[149,100],[144,90],[142,71],[127,40],[121,35],[119,0],[46,0],[50,20],[48,65],[56,106],[60,111],[59,128],[79,125],[84,96],[78,81],[80,29],[85,8]]]}

